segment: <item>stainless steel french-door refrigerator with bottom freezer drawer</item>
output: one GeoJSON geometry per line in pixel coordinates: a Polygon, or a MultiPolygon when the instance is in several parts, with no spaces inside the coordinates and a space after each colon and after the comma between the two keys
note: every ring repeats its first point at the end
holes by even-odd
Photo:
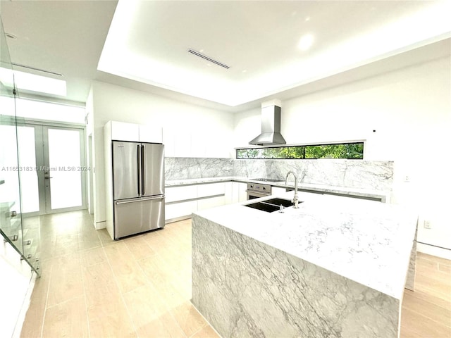
{"type": "Polygon", "coordinates": [[[112,143],[114,239],[164,227],[163,144],[112,143]]]}

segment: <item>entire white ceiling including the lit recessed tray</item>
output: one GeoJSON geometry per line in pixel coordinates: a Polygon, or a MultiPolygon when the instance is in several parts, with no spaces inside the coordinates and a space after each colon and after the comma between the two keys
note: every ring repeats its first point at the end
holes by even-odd
{"type": "Polygon", "coordinates": [[[8,39],[12,61],[63,73],[73,101],[85,101],[97,79],[230,110],[393,56],[424,59],[417,49],[447,41],[443,53],[451,36],[451,1],[120,0],[115,8],[1,1],[5,30],[17,37],[8,39]],[[313,44],[302,50],[305,35],[313,44]]]}

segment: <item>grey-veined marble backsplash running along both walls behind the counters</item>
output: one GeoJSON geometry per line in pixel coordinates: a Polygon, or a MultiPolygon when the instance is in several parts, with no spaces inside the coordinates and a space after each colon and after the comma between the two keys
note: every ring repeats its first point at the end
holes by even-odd
{"type": "Polygon", "coordinates": [[[393,186],[393,161],[235,160],[185,157],[165,159],[166,180],[227,176],[285,180],[290,170],[297,173],[299,183],[384,191],[392,190],[393,186]]]}

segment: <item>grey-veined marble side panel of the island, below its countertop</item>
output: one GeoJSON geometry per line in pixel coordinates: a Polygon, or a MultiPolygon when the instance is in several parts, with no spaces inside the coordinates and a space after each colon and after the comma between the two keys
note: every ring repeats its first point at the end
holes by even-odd
{"type": "Polygon", "coordinates": [[[397,337],[400,300],[193,215],[192,303],[223,337],[397,337]]]}

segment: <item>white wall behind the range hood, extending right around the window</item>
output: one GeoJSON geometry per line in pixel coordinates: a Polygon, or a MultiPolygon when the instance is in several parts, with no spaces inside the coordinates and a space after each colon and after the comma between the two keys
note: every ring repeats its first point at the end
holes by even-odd
{"type": "MultiPolygon", "coordinates": [[[[395,161],[394,203],[416,206],[419,242],[448,249],[450,65],[450,57],[440,58],[283,101],[281,121],[288,144],[365,139],[366,159],[395,161]]],[[[235,146],[255,137],[259,123],[258,109],[237,114],[235,146]]]]}

